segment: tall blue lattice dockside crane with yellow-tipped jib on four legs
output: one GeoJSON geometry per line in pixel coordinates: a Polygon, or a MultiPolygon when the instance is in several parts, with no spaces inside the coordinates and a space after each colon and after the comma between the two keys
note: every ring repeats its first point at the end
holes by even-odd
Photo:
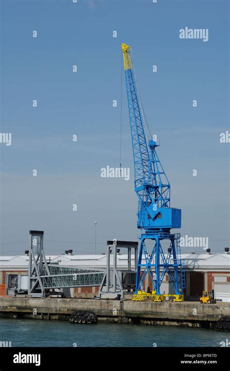
{"type": "Polygon", "coordinates": [[[170,183],[156,153],[159,142],[147,141],[147,122],[136,83],[131,48],[122,44],[121,50],[130,116],[134,187],[138,197],[137,228],[141,230],[135,294],[143,292],[149,274],[156,295],[161,295],[160,286],[167,273],[175,295],[180,296],[181,301],[185,275],[181,263],[180,233],[170,233],[171,228],[181,228],[181,210],[170,207],[170,183]],[[150,253],[146,240],[154,241],[150,253]],[[161,245],[163,240],[170,241],[167,254],[164,254],[161,245]]]}

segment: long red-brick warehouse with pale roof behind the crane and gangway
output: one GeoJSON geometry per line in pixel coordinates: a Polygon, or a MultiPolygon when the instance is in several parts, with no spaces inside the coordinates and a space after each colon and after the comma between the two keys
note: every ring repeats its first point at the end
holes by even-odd
{"type": "MultiPolygon", "coordinates": [[[[228,249],[226,249],[228,250],[228,249]]],[[[48,263],[59,264],[67,267],[84,267],[90,269],[105,269],[106,255],[75,255],[72,252],[46,256],[48,263]]],[[[198,300],[202,296],[203,290],[214,290],[216,293],[230,294],[230,253],[211,254],[210,251],[204,254],[188,253],[182,254],[186,273],[186,291],[185,300],[198,300]]],[[[127,268],[127,254],[117,254],[117,268],[127,268]]],[[[7,295],[6,277],[9,274],[28,273],[29,256],[1,256],[0,257],[0,295],[7,295]]],[[[113,256],[111,256],[111,264],[113,264],[113,256]]],[[[134,267],[134,255],[131,256],[132,269],[134,267]]],[[[150,278],[147,276],[145,280],[145,290],[152,290],[150,278]]],[[[97,296],[99,287],[77,287],[71,288],[71,297],[91,298],[97,296]]],[[[165,276],[165,281],[161,285],[161,292],[173,293],[171,283],[168,281],[168,276],[165,276]]]]}

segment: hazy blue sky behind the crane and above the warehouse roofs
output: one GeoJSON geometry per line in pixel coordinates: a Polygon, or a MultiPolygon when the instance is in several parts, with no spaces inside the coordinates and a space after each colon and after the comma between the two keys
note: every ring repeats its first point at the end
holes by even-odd
{"type": "Polygon", "coordinates": [[[1,133],[12,133],[11,146],[0,143],[0,252],[23,253],[37,229],[49,253],[90,253],[94,221],[98,252],[108,239],[136,240],[124,73],[122,166],[131,179],[100,177],[102,167],[120,163],[122,42],[132,48],[148,125],[161,143],[171,205],[182,209],[181,236],[208,237],[215,252],[229,246],[230,143],[219,141],[230,131],[229,1],[0,4],[1,133]],[[186,26],[208,28],[208,42],[180,39],[186,26]]]}

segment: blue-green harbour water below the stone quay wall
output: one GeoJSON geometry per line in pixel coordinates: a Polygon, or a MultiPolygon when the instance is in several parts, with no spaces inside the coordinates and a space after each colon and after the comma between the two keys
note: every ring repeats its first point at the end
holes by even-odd
{"type": "Polygon", "coordinates": [[[0,342],[11,342],[12,347],[220,347],[228,337],[229,333],[173,326],[0,319],[0,342]]]}

